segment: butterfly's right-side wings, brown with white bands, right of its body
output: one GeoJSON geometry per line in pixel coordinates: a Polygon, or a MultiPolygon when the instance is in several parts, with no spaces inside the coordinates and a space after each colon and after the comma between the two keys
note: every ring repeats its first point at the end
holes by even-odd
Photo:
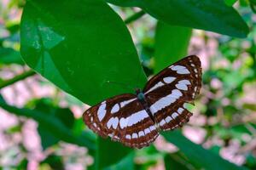
{"type": "Polygon", "coordinates": [[[192,116],[185,105],[201,88],[201,61],[191,55],[166,67],[151,78],[143,93],[162,130],[180,127],[192,116]]]}

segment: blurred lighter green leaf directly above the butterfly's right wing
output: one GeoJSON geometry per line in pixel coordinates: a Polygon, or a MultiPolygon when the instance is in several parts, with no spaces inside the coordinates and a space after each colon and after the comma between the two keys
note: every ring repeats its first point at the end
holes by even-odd
{"type": "Polygon", "coordinates": [[[158,23],[155,33],[155,73],[187,54],[191,34],[189,28],[158,23]]]}

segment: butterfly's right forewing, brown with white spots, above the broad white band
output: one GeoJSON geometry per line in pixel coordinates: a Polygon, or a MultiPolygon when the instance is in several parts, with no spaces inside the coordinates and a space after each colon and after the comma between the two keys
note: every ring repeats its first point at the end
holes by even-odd
{"type": "Polygon", "coordinates": [[[148,81],[143,93],[148,95],[169,94],[165,91],[165,88],[187,91],[186,95],[183,95],[183,99],[195,99],[201,88],[200,59],[195,55],[191,55],[166,67],[166,69],[160,71],[148,81]],[[186,88],[189,89],[187,90],[186,88]]]}

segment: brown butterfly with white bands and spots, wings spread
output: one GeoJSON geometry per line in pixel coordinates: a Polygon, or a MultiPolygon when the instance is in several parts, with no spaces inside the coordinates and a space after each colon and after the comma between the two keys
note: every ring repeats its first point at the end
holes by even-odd
{"type": "Polygon", "coordinates": [[[132,148],[148,146],[161,130],[173,130],[189,122],[193,103],[201,89],[201,61],[185,57],[152,77],[135,94],[105,99],[84,111],[84,123],[102,138],[110,137],[132,148]]]}

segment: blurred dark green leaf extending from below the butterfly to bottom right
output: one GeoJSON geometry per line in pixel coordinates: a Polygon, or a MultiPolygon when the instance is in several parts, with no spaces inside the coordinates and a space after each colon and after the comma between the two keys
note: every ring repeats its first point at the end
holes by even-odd
{"type": "Polygon", "coordinates": [[[167,141],[175,144],[183,152],[183,155],[188,157],[189,161],[193,162],[196,167],[207,170],[247,169],[224,160],[210,150],[204,149],[199,144],[194,144],[189,139],[186,139],[179,131],[165,132],[162,135],[167,141]]]}

